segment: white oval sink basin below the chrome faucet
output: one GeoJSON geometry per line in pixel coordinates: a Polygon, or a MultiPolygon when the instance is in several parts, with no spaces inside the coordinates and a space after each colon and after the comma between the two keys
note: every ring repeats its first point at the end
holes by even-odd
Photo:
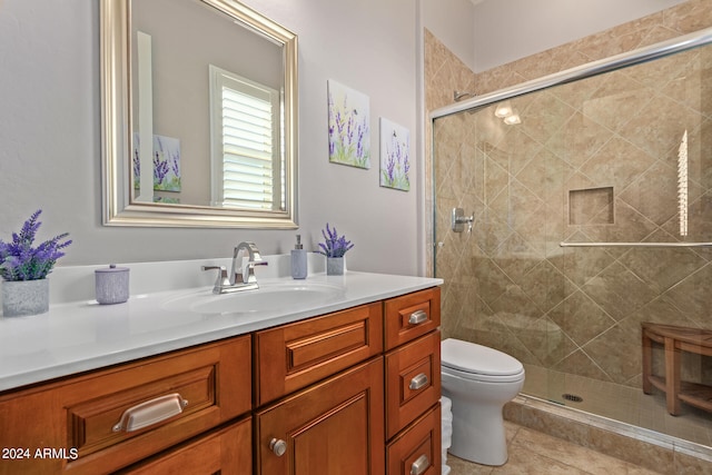
{"type": "Polygon", "coordinates": [[[260,284],[258,289],[215,295],[209,290],[191,291],[169,298],[162,307],[174,311],[204,315],[250,314],[257,311],[295,310],[326,305],[336,300],[344,288],[328,284],[289,283],[260,284]]]}

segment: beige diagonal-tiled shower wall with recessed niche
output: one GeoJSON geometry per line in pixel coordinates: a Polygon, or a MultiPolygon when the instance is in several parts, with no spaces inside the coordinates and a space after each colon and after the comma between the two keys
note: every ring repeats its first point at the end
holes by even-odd
{"type": "MultiPolygon", "coordinates": [[[[709,1],[693,0],[481,75],[467,75],[426,32],[426,105],[452,103],[455,89],[488,92],[708,26],[709,1]]],[[[443,244],[434,248],[446,281],[444,336],[501,348],[530,366],[640,387],[641,321],[712,328],[709,250],[560,247],[712,240],[711,65],[710,52],[694,50],[522,97],[513,101],[518,126],[503,125],[494,108],[438,119],[432,226],[443,244]],[[474,214],[472,234],[447,231],[456,206],[474,214]]],[[[685,358],[684,367],[688,378],[712,380],[700,358],[685,358]]]]}

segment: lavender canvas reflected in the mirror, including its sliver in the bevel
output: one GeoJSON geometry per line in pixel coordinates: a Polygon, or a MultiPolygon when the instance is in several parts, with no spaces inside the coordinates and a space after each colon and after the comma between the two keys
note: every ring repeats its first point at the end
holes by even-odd
{"type": "MultiPolygon", "coordinates": [[[[139,188],[141,161],[139,137],[134,137],[134,188],[139,188]]],[[[154,189],[180,191],[180,140],[172,137],[154,136],[154,189]]]]}

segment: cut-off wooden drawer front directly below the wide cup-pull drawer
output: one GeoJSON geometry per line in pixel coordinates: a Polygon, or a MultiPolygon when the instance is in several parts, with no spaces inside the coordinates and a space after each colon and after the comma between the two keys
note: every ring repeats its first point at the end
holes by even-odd
{"type": "Polygon", "coordinates": [[[198,437],[119,472],[123,475],[244,475],[253,473],[251,418],[198,437]]]}

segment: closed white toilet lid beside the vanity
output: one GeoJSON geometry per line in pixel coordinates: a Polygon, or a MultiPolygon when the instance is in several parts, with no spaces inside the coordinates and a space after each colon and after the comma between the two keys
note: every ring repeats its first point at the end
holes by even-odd
{"type": "Polygon", "coordinates": [[[506,353],[454,338],[441,343],[441,364],[461,372],[490,376],[512,376],[524,369],[522,363],[506,353]]]}

